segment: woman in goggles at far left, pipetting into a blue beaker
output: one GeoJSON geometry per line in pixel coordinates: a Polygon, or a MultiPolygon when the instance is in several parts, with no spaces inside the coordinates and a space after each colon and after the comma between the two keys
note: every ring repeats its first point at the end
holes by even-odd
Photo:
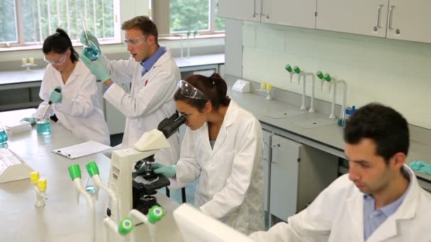
{"type": "MultiPolygon", "coordinates": [[[[99,102],[96,77],[79,62],[79,54],[65,30],[57,28],[55,34],[45,39],[42,50],[48,65],[39,93],[43,103],[35,115],[43,115],[51,101],[49,114],[55,114],[57,122],[70,132],[84,140],[109,144],[109,130],[99,102]]],[[[34,123],[34,117],[23,120],[34,123]]]]}

